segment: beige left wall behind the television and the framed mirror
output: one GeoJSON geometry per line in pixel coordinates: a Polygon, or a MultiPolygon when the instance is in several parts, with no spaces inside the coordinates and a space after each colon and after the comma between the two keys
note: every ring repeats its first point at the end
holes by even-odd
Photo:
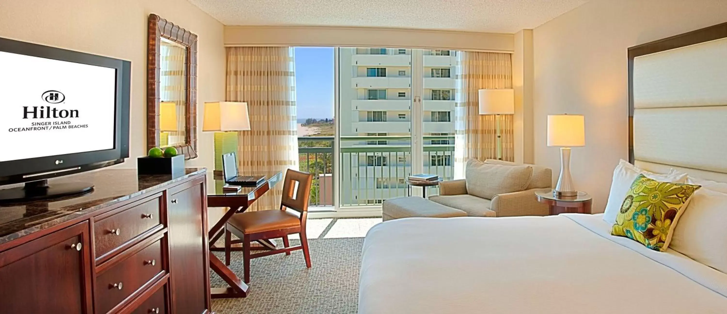
{"type": "MultiPolygon", "coordinates": [[[[0,0],[0,8],[0,37],[132,61],[131,158],[119,166],[133,167],[135,157],[146,154],[146,49],[150,13],[199,36],[198,104],[224,100],[222,23],[186,0],[0,0]]],[[[189,161],[188,166],[212,167],[212,134],[201,132],[201,116],[198,125],[200,157],[189,161]]]]}

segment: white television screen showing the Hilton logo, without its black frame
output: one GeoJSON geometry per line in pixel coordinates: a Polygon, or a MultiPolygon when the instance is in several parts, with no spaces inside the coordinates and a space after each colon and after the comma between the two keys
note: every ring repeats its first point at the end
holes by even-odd
{"type": "Polygon", "coordinates": [[[0,52],[0,162],[114,148],[116,69],[0,52]]]}

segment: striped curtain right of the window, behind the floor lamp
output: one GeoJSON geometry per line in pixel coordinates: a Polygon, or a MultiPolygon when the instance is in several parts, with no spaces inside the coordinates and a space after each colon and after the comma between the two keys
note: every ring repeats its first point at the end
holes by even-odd
{"type": "MultiPolygon", "coordinates": [[[[513,88],[510,54],[462,52],[458,57],[457,96],[454,105],[454,179],[465,177],[470,158],[497,158],[495,116],[480,116],[478,89],[513,88]]],[[[513,115],[501,115],[502,160],[513,161],[513,115]]]]}

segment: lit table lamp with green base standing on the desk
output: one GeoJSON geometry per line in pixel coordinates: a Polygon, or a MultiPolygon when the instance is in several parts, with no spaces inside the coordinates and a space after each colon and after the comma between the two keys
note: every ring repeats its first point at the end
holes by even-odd
{"type": "Polygon", "coordinates": [[[238,148],[236,132],[250,129],[247,102],[205,102],[203,132],[214,132],[214,170],[222,171],[222,155],[238,148]]]}

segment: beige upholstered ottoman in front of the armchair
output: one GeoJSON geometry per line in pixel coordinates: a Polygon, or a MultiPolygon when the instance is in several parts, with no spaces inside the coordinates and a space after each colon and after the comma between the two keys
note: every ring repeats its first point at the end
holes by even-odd
{"type": "Polygon", "coordinates": [[[382,217],[384,221],[387,221],[406,217],[467,217],[467,213],[435,203],[426,198],[408,196],[384,201],[384,204],[382,204],[382,217]]]}

